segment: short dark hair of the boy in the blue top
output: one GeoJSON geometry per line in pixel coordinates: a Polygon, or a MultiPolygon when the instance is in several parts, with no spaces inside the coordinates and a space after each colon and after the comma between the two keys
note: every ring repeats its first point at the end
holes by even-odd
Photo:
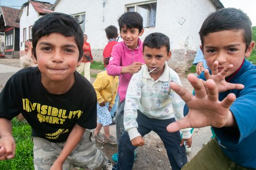
{"type": "Polygon", "coordinates": [[[236,8],[223,8],[211,13],[204,21],[200,29],[200,38],[204,46],[204,36],[209,33],[225,30],[243,30],[243,41],[246,49],[252,41],[252,22],[241,10],[236,8]]]}

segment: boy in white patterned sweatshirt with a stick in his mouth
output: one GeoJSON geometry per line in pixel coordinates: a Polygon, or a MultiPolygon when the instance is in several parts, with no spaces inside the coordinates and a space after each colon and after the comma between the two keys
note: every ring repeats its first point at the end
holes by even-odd
{"type": "Polygon", "coordinates": [[[135,73],[126,92],[124,106],[125,131],[119,141],[118,164],[113,170],[132,170],[134,150],[145,144],[143,136],[154,131],[164,142],[172,170],[187,163],[186,149],[191,146],[190,128],[169,133],[167,125],[183,118],[185,102],[171,88],[181,85],[177,73],[168,67],[171,58],[170,39],[165,34],[149,34],[143,43],[145,65],[135,73]]]}

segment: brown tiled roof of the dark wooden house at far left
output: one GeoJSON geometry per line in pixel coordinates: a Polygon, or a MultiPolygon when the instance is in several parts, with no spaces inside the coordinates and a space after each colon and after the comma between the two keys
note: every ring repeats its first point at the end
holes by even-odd
{"type": "Polygon", "coordinates": [[[6,26],[19,28],[19,23],[16,22],[19,10],[7,6],[1,6],[1,13],[6,26]]]}

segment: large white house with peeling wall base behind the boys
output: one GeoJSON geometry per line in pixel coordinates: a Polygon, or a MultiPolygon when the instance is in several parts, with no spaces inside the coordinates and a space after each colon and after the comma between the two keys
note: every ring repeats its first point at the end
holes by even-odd
{"type": "Polygon", "coordinates": [[[54,12],[66,13],[80,20],[95,60],[102,59],[107,43],[104,29],[118,27],[118,18],[127,11],[143,17],[144,34],[161,32],[170,37],[172,57],[169,66],[186,70],[199,48],[199,30],[205,17],[223,8],[219,0],[56,0],[54,12]]]}

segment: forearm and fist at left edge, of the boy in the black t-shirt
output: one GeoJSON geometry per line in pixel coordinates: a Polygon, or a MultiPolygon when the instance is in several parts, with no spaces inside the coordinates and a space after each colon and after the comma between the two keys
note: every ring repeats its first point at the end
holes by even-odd
{"type": "Polygon", "coordinates": [[[12,123],[8,119],[0,118],[0,127],[0,160],[12,159],[16,149],[12,123]]]}

